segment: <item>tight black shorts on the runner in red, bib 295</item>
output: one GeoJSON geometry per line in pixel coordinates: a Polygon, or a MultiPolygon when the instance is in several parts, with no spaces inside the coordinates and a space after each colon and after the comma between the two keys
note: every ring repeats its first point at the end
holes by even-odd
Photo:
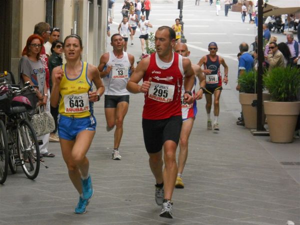
{"type": "Polygon", "coordinates": [[[178,145],[181,125],[181,115],[157,120],[143,118],[142,131],[147,152],[160,151],[166,140],[172,140],[178,145]]]}

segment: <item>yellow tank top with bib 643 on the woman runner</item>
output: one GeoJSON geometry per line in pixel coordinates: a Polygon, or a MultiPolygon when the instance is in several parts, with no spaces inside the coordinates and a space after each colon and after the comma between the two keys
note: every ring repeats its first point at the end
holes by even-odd
{"type": "Polygon", "coordinates": [[[91,90],[91,82],[87,78],[86,61],[82,62],[80,74],[73,79],[67,77],[65,64],[62,65],[64,76],[60,81],[60,102],[58,112],[65,116],[75,118],[87,117],[92,113],[92,104],[88,100],[88,91],[91,90]]]}

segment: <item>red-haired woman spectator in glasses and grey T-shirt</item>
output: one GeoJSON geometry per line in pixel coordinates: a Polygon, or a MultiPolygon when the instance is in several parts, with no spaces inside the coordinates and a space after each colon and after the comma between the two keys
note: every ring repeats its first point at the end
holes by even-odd
{"type": "MultiPolygon", "coordinates": [[[[39,35],[32,34],[28,37],[26,46],[22,51],[22,57],[20,58],[18,64],[18,75],[21,86],[24,86],[24,83],[27,81],[29,81],[31,85],[38,86],[38,88],[36,88],[38,103],[40,105],[45,105],[47,109],[47,107],[50,107],[50,105],[47,105],[47,98],[49,96],[47,94],[48,88],[46,85],[46,71],[42,61],[39,58],[42,44],[43,39],[39,35]]],[[[55,155],[47,150],[49,134],[38,136],[37,138],[39,140],[42,139],[43,141],[42,147],[41,145],[39,147],[40,155],[54,157],[55,155]]]]}

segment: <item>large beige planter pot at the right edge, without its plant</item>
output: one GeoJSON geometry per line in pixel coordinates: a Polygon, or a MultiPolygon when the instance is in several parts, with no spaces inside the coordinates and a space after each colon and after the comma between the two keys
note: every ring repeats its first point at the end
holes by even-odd
{"type": "Polygon", "coordinates": [[[264,111],[269,128],[270,139],[276,143],[293,141],[300,101],[264,101],[264,111]]]}

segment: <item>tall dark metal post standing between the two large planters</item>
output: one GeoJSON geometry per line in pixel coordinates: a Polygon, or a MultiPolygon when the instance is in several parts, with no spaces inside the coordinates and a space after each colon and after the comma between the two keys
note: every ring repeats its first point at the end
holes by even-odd
{"type": "Polygon", "coordinates": [[[262,74],[263,67],[262,63],[264,61],[263,57],[263,39],[262,39],[262,16],[263,16],[263,0],[258,0],[258,31],[257,31],[257,59],[258,59],[258,67],[257,67],[257,120],[256,120],[256,130],[262,131],[263,123],[262,121],[262,74]]]}

